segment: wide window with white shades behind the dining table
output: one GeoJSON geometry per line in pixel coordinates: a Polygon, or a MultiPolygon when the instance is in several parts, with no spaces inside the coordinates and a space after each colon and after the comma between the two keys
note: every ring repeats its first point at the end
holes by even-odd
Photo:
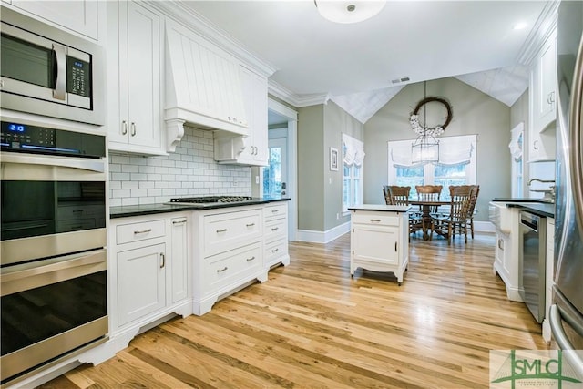
{"type": "Polygon", "coordinates": [[[476,183],[476,135],[439,138],[439,162],[414,165],[414,140],[388,142],[389,185],[411,187],[410,199],[417,198],[415,185],[442,185],[441,199],[449,200],[450,185],[476,183]]]}

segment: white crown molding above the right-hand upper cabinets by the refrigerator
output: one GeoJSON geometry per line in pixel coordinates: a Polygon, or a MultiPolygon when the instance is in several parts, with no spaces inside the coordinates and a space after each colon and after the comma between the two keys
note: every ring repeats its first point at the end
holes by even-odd
{"type": "Polygon", "coordinates": [[[537,56],[538,50],[547,38],[557,28],[557,11],[560,1],[548,1],[538,16],[535,26],[530,30],[527,40],[521,47],[517,62],[530,67],[537,56]]]}

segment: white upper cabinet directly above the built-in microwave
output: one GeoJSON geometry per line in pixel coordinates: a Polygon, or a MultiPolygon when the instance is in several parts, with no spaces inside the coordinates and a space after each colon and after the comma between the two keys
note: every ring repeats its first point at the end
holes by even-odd
{"type": "Polygon", "coordinates": [[[99,0],[30,1],[12,0],[15,7],[97,40],[99,0]]]}

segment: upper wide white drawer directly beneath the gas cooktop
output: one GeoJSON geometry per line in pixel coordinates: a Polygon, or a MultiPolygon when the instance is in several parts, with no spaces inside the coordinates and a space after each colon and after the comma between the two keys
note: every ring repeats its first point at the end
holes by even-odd
{"type": "Polygon", "coordinates": [[[227,251],[248,243],[261,240],[261,210],[245,210],[204,218],[205,257],[227,251]]]}

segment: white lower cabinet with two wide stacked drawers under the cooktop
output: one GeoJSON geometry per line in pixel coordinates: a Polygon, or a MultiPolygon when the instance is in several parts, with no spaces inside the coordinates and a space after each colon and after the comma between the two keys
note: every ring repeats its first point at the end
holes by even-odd
{"type": "Polygon", "coordinates": [[[263,205],[193,214],[193,312],[202,315],[223,296],[258,280],[263,262],[263,205]]]}

